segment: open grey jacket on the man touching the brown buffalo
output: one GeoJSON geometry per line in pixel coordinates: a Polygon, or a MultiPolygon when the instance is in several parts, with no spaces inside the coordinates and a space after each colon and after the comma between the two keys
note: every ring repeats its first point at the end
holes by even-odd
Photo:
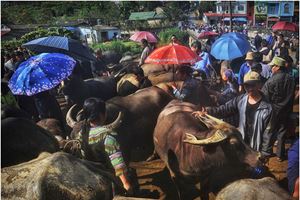
{"type": "MultiPolygon", "coordinates": [[[[207,112],[215,117],[225,118],[233,116],[235,113],[239,113],[239,126],[238,129],[245,139],[246,132],[246,107],[247,107],[248,95],[240,95],[224,105],[219,107],[208,107],[207,112]]],[[[250,139],[250,147],[256,151],[267,151],[267,145],[270,136],[270,119],[272,114],[272,106],[265,101],[264,98],[260,101],[260,104],[255,112],[252,138],[250,139]]]]}

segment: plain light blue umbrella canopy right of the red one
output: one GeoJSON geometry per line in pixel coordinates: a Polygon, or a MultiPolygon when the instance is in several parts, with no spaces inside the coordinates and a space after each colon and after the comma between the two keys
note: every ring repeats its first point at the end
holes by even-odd
{"type": "Polygon", "coordinates": [[[211,47],[211,55],[220,60],[233,60],[242,57],[250,50],[250,43],[243,34],[226,33],[211,47]]]}

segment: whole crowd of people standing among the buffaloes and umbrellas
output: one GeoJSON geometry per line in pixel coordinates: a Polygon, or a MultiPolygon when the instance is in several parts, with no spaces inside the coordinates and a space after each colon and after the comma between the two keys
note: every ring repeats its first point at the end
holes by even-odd
{"type": "MultiPolygon", "coordinates": [[[[198,31],[209,29],[216,29],[215,31],[220,34],[228,32],[218,26],[203,26],[198,31]]],[[[240,31],[247,35],[248,33],[244,30],[247,30],[246,27],[240,31]]],[[[258,32],[255,32],[253,40],[255,49],[240,59],[243,63],[238,67],[233,66],[233,61],[216,62],[216,59],[210,55],[209,48],[203,48],[205,45],[200,41],[194,41],[190,48],[199,56],[200,61],[193,65],[182,66],[176,72],[175,76],[184,83],[181,88],[178,88],[176,84],[172,85],[174,96],[185,101],[190,95],[193,95],[192,88],[198,84],[196,79],[200,77],[200,80],[205,83],[206,80],[219,75],[221,84],[217,89],[209,89],[216,106],[203,107],[195,115],[208,113],[238,127],[244,141],[253,149],[261,152],[262,159],[265,160],[274,155],[273,146],[277,140],[276,156],[278,161],[283,161],[287,158],[285,141],[289,117],[294,100],[298,97],[295,90],[299,84],[299,46],[296,46],[298,44],[295,40],[297,37],[293,37],[289,41],[285,40],[282,33],[272,32],[271,35],[263,38],[258,32]],[[294,59],[291,55],[292,50],[296,50],[294,59]]],[[[206,46],[211,45],[213,41],[211,39],[206,46]]],[[[175,45],[180,44],[175,35],[171,36],[170,42],[175,45]]],[[[141,45],[143,51],[138,63],[139,67],[145,63],[146,58],[153,51],[146,39],[141,41],[141,45]]],[[[101,49],[96,51],[95,55],[97,61],[91,66],[94,77],[108,76],[109,72],[106,64],[103,63],[101,49]]],[[[65,124],[59,104],[55,99],[55,92],[46,91],[32,97],[14,96],[10,92],[7,81],[20,63],[28,57],[29,53],[23,48],[18,48],[15,52],[2,56],[1,104],[21,108],[36,121],[44,118],[56,118],[61,124],[65,124]]],[[[143,87],[151,85],[146,81],[141,70],[135,69],[131,74],[133,76],[125,77],[133,80],[130,93],[141,88],[142,84],[145,84],[143,87]],[[135,82],[138,83],[135,84],[135,82]]],[[[122,84],[125,82],[124,80],[122,80],[122,84]]],[[[121,90],[122,84],[118,85],[119,90],[121,90]]],[[[122,95],[126,96],[128,93],[122,93],[122,95]]],[[[83,112],[86,123],[82,129],[82,140],[90,145],[101,140],[106,157],[114,167],[116,175],[120,177],[124,188],[128,191],[131,190],[127,167],[114,138],[114,133],[106,134],[107,131],[104,131],[102,127],[105,121],[105,103],[95,98],[87,99],[84,102],[83,112]],[[86,135],[88,137],[84,137],[86,135]]]]}

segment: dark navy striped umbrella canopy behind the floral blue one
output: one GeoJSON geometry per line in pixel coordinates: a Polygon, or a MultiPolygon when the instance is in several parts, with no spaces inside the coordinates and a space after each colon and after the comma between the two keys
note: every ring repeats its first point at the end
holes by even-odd
{"type": "Polygon", "coordinates": [[[63,53],[79,60],[96,60],[79,41],[61,36],[42,37],[22,45],[36,53],[63,53]]]}

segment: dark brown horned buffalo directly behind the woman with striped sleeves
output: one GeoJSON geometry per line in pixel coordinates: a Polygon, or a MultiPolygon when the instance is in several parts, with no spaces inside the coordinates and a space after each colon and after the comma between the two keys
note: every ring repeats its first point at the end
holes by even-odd
{"type": "MultiPolygon", "coordinates": [[[[115,120],[120,111],[123,113],[122,123],[116,131],[121,147],[127,154],[125,157],[129,158],[130,149],[137,146],[149,147],[148,151],[152,153],[152,134],[157,117],[163,107],[172,99],[171,95],[153,86],[138,90],[126,97],[118,96],[106,101],[108,123],[115,120]]],[[[74,106],[68,111],[66,120],[70,127],[74,127],[76,124],[75,116],[80,109],[80,107],[74,106]]],[[[81,120],[80,117],[78,120],[81,120]]],[[[78,126],[74,127],[71,133],[72,138],[76,138],[76,134],[79,132],[78,126]]]]}

